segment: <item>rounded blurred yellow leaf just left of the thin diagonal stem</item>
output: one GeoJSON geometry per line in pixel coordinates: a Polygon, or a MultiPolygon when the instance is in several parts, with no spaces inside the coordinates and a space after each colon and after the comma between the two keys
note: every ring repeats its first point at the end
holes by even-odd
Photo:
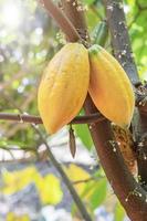
{"type": "Polygon", "coordinates": [[[54,175],[45,176],[38,186],[43,204],[57,204],[63,197],[60,180],[54,175]]]}

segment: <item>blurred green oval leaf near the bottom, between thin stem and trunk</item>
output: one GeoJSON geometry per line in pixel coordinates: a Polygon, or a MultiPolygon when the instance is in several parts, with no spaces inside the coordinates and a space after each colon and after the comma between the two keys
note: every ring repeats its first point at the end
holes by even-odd
{"type": "Polygon", "coordinates": [[[99,204],[104,202],[106,198],[106,192],[107,192],[107,181],[106,179],[102,179],[95,186],[90,198],[93,210],[95,210],[99,204]]]}

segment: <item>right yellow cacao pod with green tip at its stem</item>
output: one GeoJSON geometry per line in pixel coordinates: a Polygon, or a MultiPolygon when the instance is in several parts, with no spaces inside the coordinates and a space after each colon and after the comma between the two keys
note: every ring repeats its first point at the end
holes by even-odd
{"type": "Polygon", "coordinates": [[[117,60],[99,45],[90,48],[90,95],[97,109],[120,127],[128,127],[135,95],[129,78],[117,60]]]}

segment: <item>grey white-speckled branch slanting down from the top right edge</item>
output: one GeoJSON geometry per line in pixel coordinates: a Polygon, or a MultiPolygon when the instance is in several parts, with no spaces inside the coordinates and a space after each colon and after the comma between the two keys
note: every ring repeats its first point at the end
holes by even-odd
{"type": "Polygon", "coordinates": [[[106,9],[107,23],[112,35],[114,54],[119,61],[134,85],[139,76],[133,57],[126,19],[122,0],[103,0],[106,9]]]}

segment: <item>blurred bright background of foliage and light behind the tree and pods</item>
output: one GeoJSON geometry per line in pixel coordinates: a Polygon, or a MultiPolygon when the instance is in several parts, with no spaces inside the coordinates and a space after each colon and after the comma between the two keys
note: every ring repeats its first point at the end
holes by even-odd
{"type": "MultiPolygon", "coordinates": [[[[83,3],[92,40],[96,42],[105,20],[103,3],[83,3]]],[[[147,81],[146,1],[125,0],[124,10],[139,76],[147,81]]],[[[63,44],[64,34],[38,1],[0,0],[1,113],[39,115],[36,92],[42,71],[63,44]]],[[[105,48],[112,51],[109,33],[105,48]]],[[[74,159],[69,148],[69,127],[49,136],[42,125],[0,122],[0,221],[83,220],[40,133],[92,220],[127,220],[97,160],[88,127],[73,128],[77,148],[74,159]]]]}

